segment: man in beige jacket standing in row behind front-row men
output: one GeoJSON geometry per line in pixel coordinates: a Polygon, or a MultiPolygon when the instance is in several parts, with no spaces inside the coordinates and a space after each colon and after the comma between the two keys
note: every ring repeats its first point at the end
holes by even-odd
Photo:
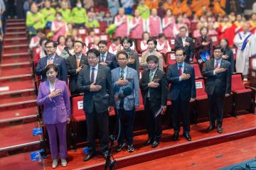
{"type": "Polygon", "coordinates": [[[145,52],[142,53],[142,59],[139,62],[139,66],[146,68],[147,67],[146,58],[149,57],[149,55],[155,55],[156,57],[159,58],[159,64],[158,64],[159,69],[161,69],[163,71],[164,70],[163,56],[161,55],[160,52],[156,51],[157,41],[154,38],[149,38],[149,40],[147,40],[146,44],[148,45],[148,48],[145,52]]]}

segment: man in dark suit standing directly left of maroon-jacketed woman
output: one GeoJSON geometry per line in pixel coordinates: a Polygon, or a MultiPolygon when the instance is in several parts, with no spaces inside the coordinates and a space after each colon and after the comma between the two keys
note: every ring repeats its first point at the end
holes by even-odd
{"type": "Polygon", "coordinates": [[[193,39],[186,36],[188,29],[186,27],[179,28],[180,37],[175,39],[175,49],[182,48],[186,53],[185,62],[190,64],[193,62],[193,39]]]}

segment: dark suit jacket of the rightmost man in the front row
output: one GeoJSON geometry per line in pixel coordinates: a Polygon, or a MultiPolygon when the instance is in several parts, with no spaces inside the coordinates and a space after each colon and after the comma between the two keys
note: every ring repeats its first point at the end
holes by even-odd
{"type": "Polygon", "coordinates": [[[225,95],[231,91],[230,62],[221,60],[220,68],[227,69],[225,72],[213,75],[214,60],[208,60],[203,68],[203,77],[206,79],[206,93],[208,95],[225,95]]]}

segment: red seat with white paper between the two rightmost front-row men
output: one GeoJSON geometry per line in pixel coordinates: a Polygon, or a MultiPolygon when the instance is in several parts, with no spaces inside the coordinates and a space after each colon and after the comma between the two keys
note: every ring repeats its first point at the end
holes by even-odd
{"type": "Polygon", "coordinates": [[[208,120],[208,96],[203,79],[196,80],[196,112],[193,114],[196,123],[208,120]]]}

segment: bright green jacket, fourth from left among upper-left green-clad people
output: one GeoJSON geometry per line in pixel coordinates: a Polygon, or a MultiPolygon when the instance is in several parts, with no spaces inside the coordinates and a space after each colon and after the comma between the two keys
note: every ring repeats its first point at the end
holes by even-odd
{"type": "Polygon", "coordinates": [[[73,8],[71,16],[73,23],[87,23],[87,13],[85,8],[73,8]]]}

